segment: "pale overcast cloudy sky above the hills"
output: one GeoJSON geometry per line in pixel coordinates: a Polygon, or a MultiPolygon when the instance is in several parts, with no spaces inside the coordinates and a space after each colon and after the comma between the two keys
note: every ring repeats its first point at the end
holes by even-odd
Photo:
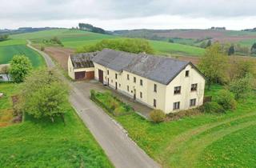
{"type": "MultiPolygon", "coordinates": [[[[6,23],[14,27],[22,26],[21,23],[30,25],[35,22],[37,25],[41,25],[40,22],[48,22],[45,26],[51,26],[54,22],[70,22],[65,25],[71,26],[71,22],[73,24],[78,21],[96,24],[132,20],[143,22],[143,18],[160,16],[179,17],[196,22],[200,19],[229,21],[236,18],[254,18],[255,6],[254,0],[2,0],[0,9],[4,10],[0,10],[0,27],[8,27],[6,23]]],[[[250,19],[247,20],[249,22],[250,19]]],[[[147,25],[154,25],[154,22],[157,21],[151,20],[147,25]]],[[[173,21],[162,24],[168,26],[170,22],[173,21]]],[[[134,25],[139,25],[135,23],[134,25]]],[[[177,23],[184,24],[178,21],[177,23]]],[[[187,24],[188,28],[190,26],[187,24]]],[[[114,26],[111,29],[115,29],[114,26]]]]}

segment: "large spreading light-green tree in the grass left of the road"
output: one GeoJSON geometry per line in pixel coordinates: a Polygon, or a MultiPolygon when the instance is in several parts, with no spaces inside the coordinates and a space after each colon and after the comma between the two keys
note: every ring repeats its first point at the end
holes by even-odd
{"type": "Polygon", "coordinates": [[[68,87],[55,70],[35,70],[22,84],[22,111],[34,118],[50,118],[52,122],[61,116],[64,121],[68,93],[68,87]]]}

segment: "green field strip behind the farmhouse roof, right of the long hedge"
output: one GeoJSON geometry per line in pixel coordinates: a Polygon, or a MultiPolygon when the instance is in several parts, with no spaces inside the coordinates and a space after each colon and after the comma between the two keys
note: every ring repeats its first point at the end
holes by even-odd
{"type": "Polygon", "coordinates": [[[159,54],[202,56],[205,52],[205,50],[202,48],[182,45],[178,43],[150,41],[150,45],[153,46],[154,50],[156,50],[159,54]]]}

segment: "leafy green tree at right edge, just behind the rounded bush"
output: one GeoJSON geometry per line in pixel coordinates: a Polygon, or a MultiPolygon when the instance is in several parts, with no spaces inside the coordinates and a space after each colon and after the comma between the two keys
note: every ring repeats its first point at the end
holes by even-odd
{"type": "Polygon", "coordinates": [[[234,93],[234,98],[246,98],[253,89],[254,79],[252,75],[246,74],[244,78],[237,78],[230,82],[230,91],[234,93]]]}

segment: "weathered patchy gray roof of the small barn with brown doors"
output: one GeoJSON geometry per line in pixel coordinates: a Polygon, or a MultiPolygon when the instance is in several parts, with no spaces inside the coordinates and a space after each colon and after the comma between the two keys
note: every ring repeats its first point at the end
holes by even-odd
{"type": "Polygon", "coordinates": [[[98,54],[98,52],[70,55],[70,59],[74,66],[74,69],[94,67],[92,58],[96,54],[98,54]]]}

